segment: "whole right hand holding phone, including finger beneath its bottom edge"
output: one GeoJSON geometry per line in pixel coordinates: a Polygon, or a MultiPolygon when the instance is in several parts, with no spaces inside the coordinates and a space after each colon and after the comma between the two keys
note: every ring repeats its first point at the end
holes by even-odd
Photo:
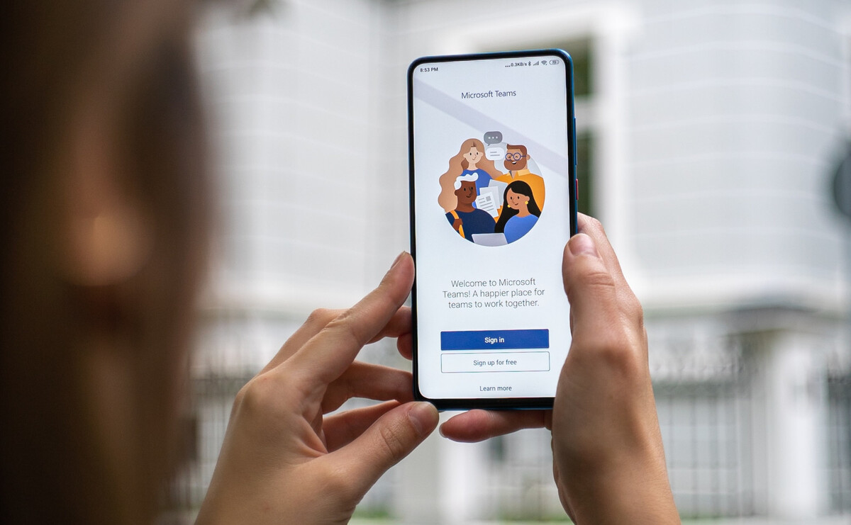
{"type": "MultiPolygon", "coordinates": [[[[648,368],[643,312],[603,227],[580,215],[562,272],[573,342],[552,411],[456,415],[444,436],[478,441],[552,430],[553,475],[574,522],[679,523],[648,368]]],[[[407,338],[400,340],[400,345],[407,338]]]]}

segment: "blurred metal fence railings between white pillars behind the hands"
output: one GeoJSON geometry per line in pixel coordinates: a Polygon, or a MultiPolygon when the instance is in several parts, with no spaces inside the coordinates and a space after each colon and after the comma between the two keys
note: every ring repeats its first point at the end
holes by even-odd
{"type": "MultiPolygon", "coordinates": [[[[760,437],[755,436],[754,407],[759,399],[754,370],[741,358],[751,343],[745,338],[724,344],[723,352],[732,358],[724,361],[722,373],[680,379],[669,375],[654,382],[671,487],[683,517],[747,517],[766,508],[765,494],[755,479],[764,468],[755,461],[760,437]]],[[[168,490],[171,508],[191,514],[201,504],[233,398],[250,376],[248,372],[205,374],[193,379],[186,432],[191,443],[186,447],[186,464],[168,490]]],[[[826,383],[825,475],[830,511],[847,513],[851,511],[851,375],[830,375],[826,383]]],[[[485,446],[488,517],[550,520],[563,516],[552,482],[549,432],[517,432],[485,446]]],[[[361,511],[391,516],[396,481],[394,475],[382,479],[363,500],[361,511]]]]}

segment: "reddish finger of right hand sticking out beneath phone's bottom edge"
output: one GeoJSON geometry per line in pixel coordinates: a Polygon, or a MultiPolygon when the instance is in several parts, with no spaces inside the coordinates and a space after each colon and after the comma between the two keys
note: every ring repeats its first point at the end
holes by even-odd
{"type": "Polygon", "coordinates": [[[470,410],[440,426],[440,434],[453,441],[476,443],[523,428],[550,428],[552,410],[470,410]]]}

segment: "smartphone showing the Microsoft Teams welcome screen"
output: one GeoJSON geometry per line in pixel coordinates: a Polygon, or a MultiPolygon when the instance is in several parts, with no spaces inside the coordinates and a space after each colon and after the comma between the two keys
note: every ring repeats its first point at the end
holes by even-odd
{"type": "Polygon", "coordinates": [[[414,397],[551,408],[570,347],[573,67],[560,49],[408,68],[414,397]]]}

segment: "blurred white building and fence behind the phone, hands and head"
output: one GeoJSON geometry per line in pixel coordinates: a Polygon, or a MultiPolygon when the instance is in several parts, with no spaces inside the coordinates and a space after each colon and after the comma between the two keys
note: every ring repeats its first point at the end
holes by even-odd
{"type": "MultiPolygon", "coordinates": [[[[197,34],[220,192],[171,488],[191,516],[233,396],[313,308],[408,249],[405,73],[426,54],[574,57],[580,211],[643,302],[684,519],[851,521],[851,2],[243,0],[197,34]]],[[[545,111],[546,108],[529,108],[545,111]]],[[[363,358],[402,367],[392,343],[363,358]]],[[[550,436],[429,440],[355,522],[568,521],[550,436]]]]}

